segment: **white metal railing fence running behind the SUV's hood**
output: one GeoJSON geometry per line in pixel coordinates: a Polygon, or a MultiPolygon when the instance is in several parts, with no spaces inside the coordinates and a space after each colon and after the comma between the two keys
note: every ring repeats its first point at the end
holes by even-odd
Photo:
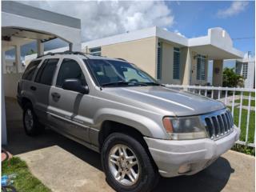
{"type": "Polygon", "coordinates": [[[255,90],[216,86],[166,85],[172,89],[186,90],[218,99],[230,108],[234,124],[241,130],[237,143],[255,147],[255,90]]]}

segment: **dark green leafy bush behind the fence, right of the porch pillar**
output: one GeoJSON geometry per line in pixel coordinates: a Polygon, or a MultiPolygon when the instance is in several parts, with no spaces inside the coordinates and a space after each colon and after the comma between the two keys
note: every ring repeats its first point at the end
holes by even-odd
{"type": "Polygon", "coordinates": [[[244,78],[240,74],[234,72],[234,68],[225,68],[223,70],[223,86],[243,87],[244,78]]]}

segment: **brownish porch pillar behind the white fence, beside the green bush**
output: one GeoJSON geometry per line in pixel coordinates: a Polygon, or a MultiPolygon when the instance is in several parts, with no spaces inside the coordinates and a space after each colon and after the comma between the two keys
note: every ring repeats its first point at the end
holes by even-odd
{"type": "MultiPolygon", "coordinates": [[[[222,86],[223,60],[214,60],[213,86],[222,86]]],[[[214,98],[218,97],[218,90],[214,91],[214,98]]]]}

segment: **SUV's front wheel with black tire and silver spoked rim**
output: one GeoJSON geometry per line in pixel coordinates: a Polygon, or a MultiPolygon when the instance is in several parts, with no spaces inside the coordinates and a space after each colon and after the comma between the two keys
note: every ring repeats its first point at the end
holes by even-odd
{"type": "Polygon", "coordinates": [[[157,185],[159,178],[158,170],[150,161],[142,144],[122,133],[110,134],[103,143],[102,168],[106,174],[106,182],[120,192],[149,192],[157,185]],[[121,160],[122,155],[125,156],[124,160],[121,160]],[[135,158],[132,159],[131,156],[135,158]],[[132,166],[133,164],[135,165],[132,166]]]}

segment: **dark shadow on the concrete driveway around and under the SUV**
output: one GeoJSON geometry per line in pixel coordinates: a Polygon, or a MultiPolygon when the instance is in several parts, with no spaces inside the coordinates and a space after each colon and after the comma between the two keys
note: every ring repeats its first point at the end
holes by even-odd
{"type": "MultiPolygon", "coordinates": [[[[22,110],[19,109],[15,100],[6,99],[6,118],[8,146],[4,147],[11,154],[22,154],[49,146],[59,146],[102,171],[100,154],[55,133],[53,130],[46,130],[44,134],[38,135],[35,138],[26,136],[21,120],[22,110]]],[[[178,178],[161,178],[154,192],[221,191],[226,186],[232,173],[234,173],[234,170],[231,168],[230,162],[226,158],[221,157],[206,170],[202,170],[198,174],[178,178]]]]}

